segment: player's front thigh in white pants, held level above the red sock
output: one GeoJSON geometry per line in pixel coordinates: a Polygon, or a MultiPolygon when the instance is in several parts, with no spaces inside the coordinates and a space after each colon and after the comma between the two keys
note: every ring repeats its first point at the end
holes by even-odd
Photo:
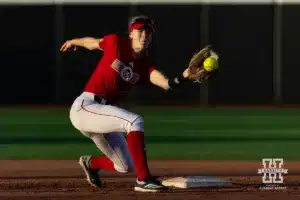
{"type": "Polygon", "coordinates": [[[130,132],[132,128],[143,131],[144,128],[142,118],[135,113],[85,100],[80,108],[71,110],[71,121],[78,130],[92,133],[130,132]]]}

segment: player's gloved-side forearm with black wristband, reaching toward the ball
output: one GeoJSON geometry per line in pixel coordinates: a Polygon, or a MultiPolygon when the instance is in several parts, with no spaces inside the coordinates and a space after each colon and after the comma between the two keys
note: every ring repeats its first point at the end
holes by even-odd
{"type": "Polygon", "coordinates": [[[171,88],[178,87],[181,83],[188,80],[188,69],[184,70],[182,74],[174,79],[168,79],[160,71],[153,70],[150,74],[150,82],[164,90],[169,90],[171,88]]]}

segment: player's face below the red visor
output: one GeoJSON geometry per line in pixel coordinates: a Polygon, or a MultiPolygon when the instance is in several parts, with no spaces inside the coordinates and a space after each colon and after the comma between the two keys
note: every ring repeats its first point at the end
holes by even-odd
{"type": "Polygon", "coordinates": [[[132,30],[130,33],[130,38],[132,39],[133,49],[136,52],[139,52],[148,48],[152,39],[152,33],[144,29],[132,30]]]}

